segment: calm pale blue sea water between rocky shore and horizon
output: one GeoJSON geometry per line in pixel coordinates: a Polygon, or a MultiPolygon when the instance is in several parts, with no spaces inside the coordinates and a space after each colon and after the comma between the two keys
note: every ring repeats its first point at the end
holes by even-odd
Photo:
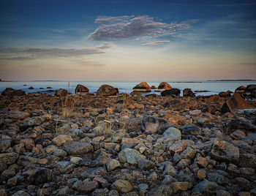
{"type": "MultiPolygon", "coordinates": [[[[89,88],[89,91],[91,93],[97,91],[99,86],[102,84],[108,84],[115,88],[119,89],[119,92],[122,93],[131,93],[132,88],[135,87],[140,81],[137,82],[123,82],[123,81],[17,81],[17,82],[1,82],[0,83],[0,91],[4,91],[5,88],[15,88],[15,89],[21,89],[23,91],[26,91],[26,93],[30,92],[46,92],[47,87],[51,87],[51,90],[56,90],[59,88],[65,88],[69,92],[74,93],[75,87],[78,84],[82,84],[83,86],[86,86],[89,88]],[[32,86],[34,89],[29,89],[29,87],[32,86]],[[44,89],[39,89],[44,88],[44,89]]],[[[158,86],[160,82],[147,82],[149,86],[158,86]]],[[[195,90],[207,90],[209,92],[200,92],[197,93],[197,95],[211,95],[211,94],[219,94],[221,91],[235,91],[236,88],[239,86],[247,86],[249,84],[256,84],[256,81],[200,81],[200,82],[194,82],[194,83],[186,83],[186,82],[173,82],[170,81],[170,86],[173,88],[178,88],[182,90],[184,88],[192,88],[192,91],[195,90]]],[[[151,93],[159,94],[159,92],[151,91],[151,93]]]]}

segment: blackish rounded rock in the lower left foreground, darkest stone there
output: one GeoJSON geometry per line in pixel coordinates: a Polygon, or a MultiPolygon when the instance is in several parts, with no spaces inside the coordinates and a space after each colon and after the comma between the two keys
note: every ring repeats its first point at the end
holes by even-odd
{"type": "Polygon", "coordinates": [[[33,175],[29,176],[31,184],[43,184],[53,180],[52,170],[39,168],[33,175]]]}

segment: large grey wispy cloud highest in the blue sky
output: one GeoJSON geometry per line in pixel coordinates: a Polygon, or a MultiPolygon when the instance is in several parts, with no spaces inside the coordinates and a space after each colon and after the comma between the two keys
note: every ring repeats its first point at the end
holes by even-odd
{"type": "Polygon", "coordinates": [[[160,23],[154,18],[143,16],[101,16],[95,20],[98,28],[91,34],[92,40],[113,40],[138,37],[161,37],[175,34],[176,31],[187,29],[197,20],[189,20],[183,23],[160,23]]]}

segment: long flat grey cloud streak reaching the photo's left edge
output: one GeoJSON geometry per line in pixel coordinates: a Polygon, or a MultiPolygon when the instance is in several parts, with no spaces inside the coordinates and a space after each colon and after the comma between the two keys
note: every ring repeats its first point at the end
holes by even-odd
{"type": "Polygon", "coordinates": [[[105,50],[113,48],[113,46],[112,43],[103,43],[89,48],[3,48],[0,49],[0,59],[25,61],[40,58],[87,56],[105,53],[105,50]]]}

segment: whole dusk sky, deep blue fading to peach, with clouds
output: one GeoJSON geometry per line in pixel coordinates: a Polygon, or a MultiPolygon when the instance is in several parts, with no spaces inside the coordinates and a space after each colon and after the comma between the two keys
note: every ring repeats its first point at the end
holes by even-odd
{"type": "Polygon", "coordinates": [[[1,0],[1,80],[256,79],[256,1],[1,0]]]}

